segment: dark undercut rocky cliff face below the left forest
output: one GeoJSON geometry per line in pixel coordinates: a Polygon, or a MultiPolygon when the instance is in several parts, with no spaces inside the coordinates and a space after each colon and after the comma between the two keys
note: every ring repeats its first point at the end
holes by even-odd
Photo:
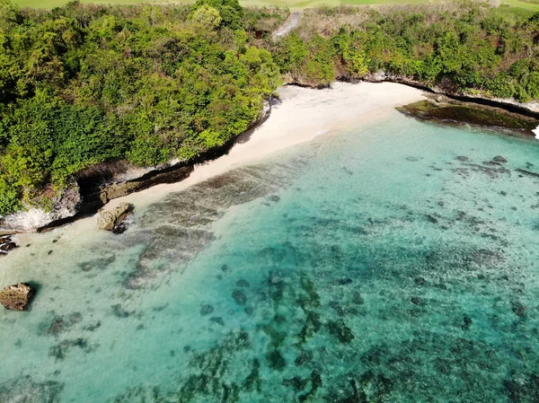
{"type": "MultiPolygon", "coordinates": [[[[270,110],[270,102],[265,102],[261,114],[252,122],[249,129],[268,118],[270,110]]],[[[161,183],[184,180],[189,177],[195,165],[228,153],[236,138],[201,153],[188,162],[175,160],[159,166],[140,168],[127,162],[113,161],[90,167],[76,175],[73,183],[53,200],[53,206],[49,211],[29,208],[12,215],[0,216],[0,234],[40,232],[48,227],[68,223],[77,215],[93,214],[114,198],[161,183]]]]}

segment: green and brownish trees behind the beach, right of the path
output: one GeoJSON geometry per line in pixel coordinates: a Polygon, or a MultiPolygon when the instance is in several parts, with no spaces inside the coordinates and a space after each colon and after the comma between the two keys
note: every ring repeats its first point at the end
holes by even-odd
{"type": "Polygon", "coordinates": [[[289,81],[309,85],[383,70],[454,92],[539,99],[539,13],[472,2],[317,8],[267,47],[289,81]]]}

